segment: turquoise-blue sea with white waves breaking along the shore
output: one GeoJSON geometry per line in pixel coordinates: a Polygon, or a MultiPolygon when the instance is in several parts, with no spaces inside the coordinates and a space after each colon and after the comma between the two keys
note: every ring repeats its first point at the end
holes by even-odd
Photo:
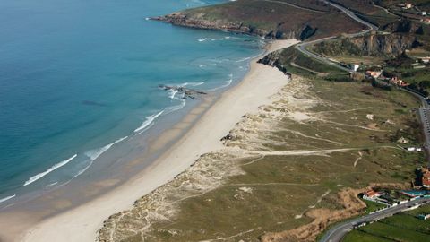
{"type": "Polygon", "coordinates": [[[0,206],[79,178],[195,102],[159,84],[213,92],[240,80],[261,40],[146,19],[220,2],[1,1],[0,206]]]}

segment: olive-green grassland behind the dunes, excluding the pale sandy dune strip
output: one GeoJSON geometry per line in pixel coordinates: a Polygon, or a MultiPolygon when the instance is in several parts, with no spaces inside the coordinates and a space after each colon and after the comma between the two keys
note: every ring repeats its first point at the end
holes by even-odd
{"type": "MultiPolygon", "coordinates": [[[[258,241],[265,231],[309,223],[310,219],[297,215],[310,207],[340,209],[336,193],[343,187],[413,179],[414,169],[423,164],[423,154],[399,149],[395,140],[401,133],[413,143],[421,142],[412,128],[417,122],[417,99],[401,91],[369,91],[366,84],[357,82],[310,82],[313,87],[308,95],[321,103],[308,113],[324,120],[297,123],[284,118],[271,130],[259,131],[259,141],[241,138],[232,144],[258,146],[262,151],[352,150],[217,161],[239,162],[245,173],[229,177],[208,193],[181,200],[173,218],[153,223],[144,234],[135,231],[124,241],[258,241]],[[379,131],[363,128],[370,122],[369,113],[375,115],[371,122],[379,131]],[[253,192],[242,193],[239,187],[250,187],[253,192]]],[[[127,220],[122,224],[126,227],[127,220]]]]}

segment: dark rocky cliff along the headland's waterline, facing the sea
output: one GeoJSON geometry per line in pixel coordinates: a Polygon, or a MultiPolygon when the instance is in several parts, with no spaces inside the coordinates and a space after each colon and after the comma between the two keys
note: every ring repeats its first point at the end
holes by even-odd
{"type": "Polygon", "coordinates": [[[178,26],[184,26],[205,30],[228,30],[231,32],[245,33],[254,36],[261,36],[267,39],[307,39],[314,35],[316,29],[309,25],[303,28],[285,30],[280,24],[275,30],[265,30],[254,27],[244,22],[231,22],[223,19],[208,20],[203,14],[171,13],[165,16],[155,17],[152,20],[168,22],[178,26]]]}

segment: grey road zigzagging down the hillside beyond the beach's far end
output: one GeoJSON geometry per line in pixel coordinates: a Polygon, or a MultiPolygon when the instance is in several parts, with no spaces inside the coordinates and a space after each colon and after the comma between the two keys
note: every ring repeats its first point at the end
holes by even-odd
{"type": "MultiPolygon", "coordinates": [[[[347,8],[344,8],[343,6],[340,6],[339,4],[331,3],[330,1],[323,1],[323,2],[326,3],[326,4],[331,4],[331,6],[339,9],[343,13],[346,13],[353,20],[355,20],[357,22],[360,22],[360,23],[362,23],[362,24],[364,24],[364,25],[366,25],[368,27],[367,30],[363,30],[363,31],[360,31],[360,32],[357,32],[357,33],[353,33],[353,34],[348,34],[347,36],[349,38],[354,38],[354,37],[357,37],[357,36],[365,35],[366,33],[370,32],[370,31],[376,31],[376,30],[378,30],[377,26],[375,26],[374,24],[372,24],[370,22],[366,22],[366,21],[360,19],[355,13],[353,13],[352,11],[349,11],[347,8]]],[[[303,42],[301,44],[296,45],[296,48],[297,48],[297,50],[299,50],[300,52],[302,52],[303,54],[305,54],[305,56],[312,57],[312,58],[317,59],[317,60],[319,60],[319,61],[321,61],[321,62],[323,62],[325,64],[328,64],[328,65],[335,65],[336,67],[338,67],[341,70],[344,70],[346,72],[351,72],[350,69],[348,69],[348,68],[346,68],[346,67],[344,67],[342,65],[339,65],[338,63],[332,62],[331,60],[327,59],[326,57],[317,55],[317,54],[315,54],[313,52],[310,52],[309,50],[306,49],[310,45],[318,44],[318,43],[321,43],[321,42],[326,41],[328,39],[336,39],[336,38],[337,38],[337,36],[331,36],[331,37],[327,37],[327,38],[323,38],[323,39],[316,39],[316,40],[313,40],[313,41],[306,41],[306,42],[303,42]]]]}

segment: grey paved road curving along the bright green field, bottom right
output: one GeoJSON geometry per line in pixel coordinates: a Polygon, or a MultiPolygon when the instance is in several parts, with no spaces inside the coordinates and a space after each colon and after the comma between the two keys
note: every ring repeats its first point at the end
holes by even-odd
{"type": "Polygon", "coordinates": [[[430,203],[430,198],[419,198],[415,201],[403,203],[380,212],[374,212],[372,214],[368,214],[356,220],[349,220],[347,222],[341,223],[340,225],[334,227],[333,229],[330,229],[320,240],[320,242],[340,241],[351,229],[353,229],[358,224],[363,222],[370,222],[374,220],[381,220],[383,218],[390,217],[397,212],[401,212],[407,209],[408,206],[413,206],[415,203],[418,203],[418,204],[430,203]]]}

